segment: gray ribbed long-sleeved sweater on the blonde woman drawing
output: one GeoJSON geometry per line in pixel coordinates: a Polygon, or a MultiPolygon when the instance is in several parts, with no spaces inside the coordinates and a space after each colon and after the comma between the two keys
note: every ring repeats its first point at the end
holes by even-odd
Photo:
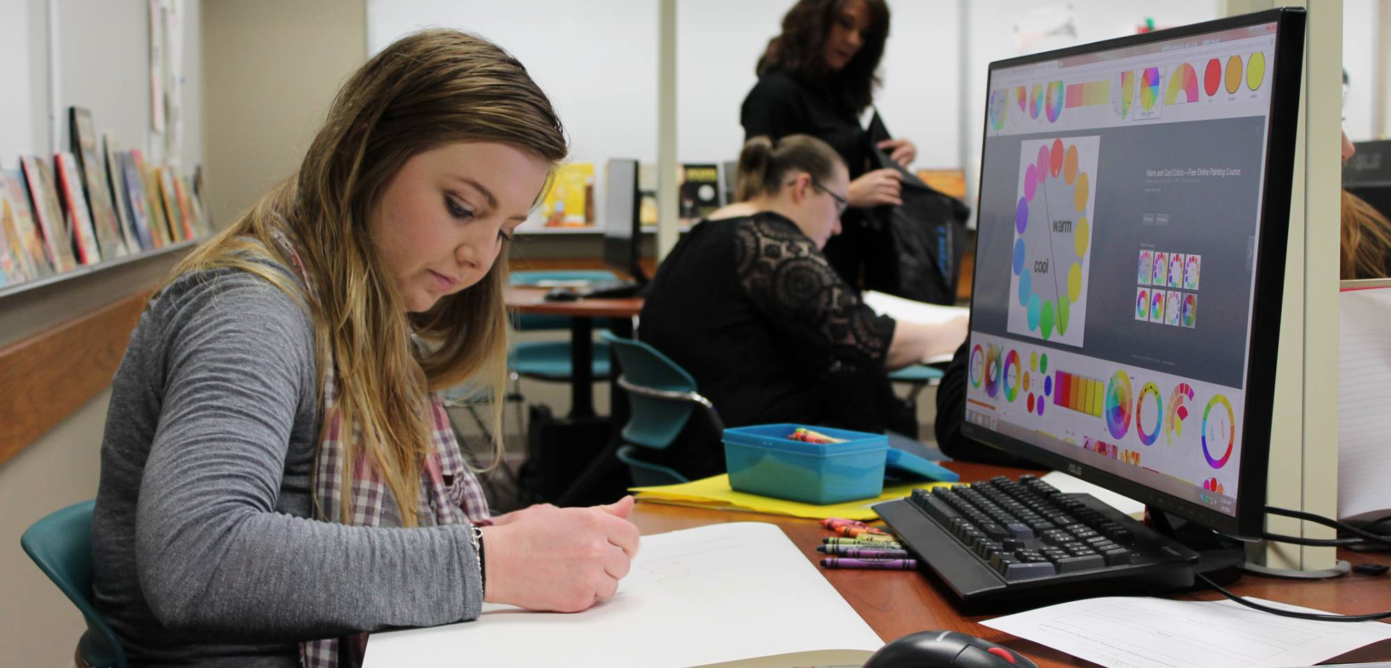
{"type": "Polygon", "coordinates": [[[466,526],[307,519],[316,390],[310,321],[263,278],[185,276],[140,317],[92,526],[132,665],[291,667],[299,640],[479,615],[466,526]]]}

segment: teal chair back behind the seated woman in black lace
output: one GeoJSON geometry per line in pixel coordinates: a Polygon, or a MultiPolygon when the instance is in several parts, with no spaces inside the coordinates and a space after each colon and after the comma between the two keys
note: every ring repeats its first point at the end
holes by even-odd
{"type": "Polygon", "coordinates": [[[619,431],[619,461],[627,465],[637,486],[689,482],[682,473],[647,461],[643,451],[659,451],[676,443],[697,411],[715,434],[722,433],[725,424],[715,406],[696,391],[696,379],[657,348],[612,333],[604,333],[602,338],[613,347],[623,370],[618,385],[627,392],[632,406],[619,431]]]}

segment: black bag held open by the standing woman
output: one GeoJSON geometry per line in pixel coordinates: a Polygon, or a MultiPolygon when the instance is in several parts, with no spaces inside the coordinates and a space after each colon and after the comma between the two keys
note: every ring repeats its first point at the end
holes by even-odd
{"type": "Polygon", "coordinates": [[[893,255],[899,259],[892,267],[896,276],[881,289],[919,302],[956,303],[965,220],[971,209],[932,189],[876,148],[879,142],[892,139],[878,111],[869,121],[868,139],[869,167],[890,167],[903,177],[903,205],[878,206],[868,216],[874,227],[887,232],[893,255]]]}

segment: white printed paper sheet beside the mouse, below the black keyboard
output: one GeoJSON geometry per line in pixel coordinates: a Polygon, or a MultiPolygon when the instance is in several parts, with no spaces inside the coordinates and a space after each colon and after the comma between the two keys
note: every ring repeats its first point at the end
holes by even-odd
{"type": "MultiPolygon", "coordinates": [[[[1299,611],[1317,610],[1251,598],[1299,611]]],[[[1107,668],[1281,668],[1310,665],[1391,639],[1381,622],[1312,622],[1234,601],[1104,597],[981,622],[1107,668]]]]}

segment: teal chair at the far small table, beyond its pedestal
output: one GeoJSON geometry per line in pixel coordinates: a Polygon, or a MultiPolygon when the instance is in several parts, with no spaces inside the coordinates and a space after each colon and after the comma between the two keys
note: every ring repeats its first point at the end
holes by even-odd
{"type": "MultiPolygon", "coordinates": [[[[512,285],[545,285],[549,281],[612,281],[618,274],[606,270],[526,270],[512,271],[512,285]]],[[[569,330],[569,316],[545,313],[519,313],[515,320],[517,331],[569,330]]],[[[517,376],[552,383],[570,381],[569,341],[520,341],[508,355],[508,367],[517,376]]],[[[594,380],[611,380],[608,344],[594,344],[594,380]]]]}

